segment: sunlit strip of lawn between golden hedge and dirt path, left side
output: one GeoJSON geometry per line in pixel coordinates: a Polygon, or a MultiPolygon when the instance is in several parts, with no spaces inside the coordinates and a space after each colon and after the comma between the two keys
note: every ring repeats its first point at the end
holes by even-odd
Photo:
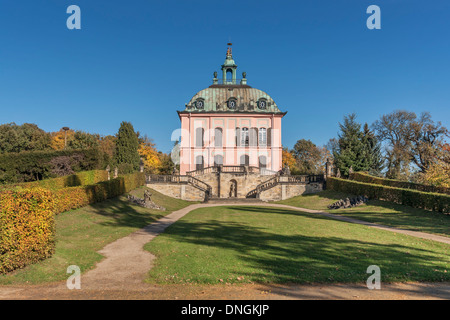
{"type": "MultiPolygon", "coordinates": [[[[145,187],[131,193],[143,197],[145,187]]],[[[103,257],[97,253],[108,243],[158,220],[192,202],[166,197],[151,190],[152,200],[166,211],[131,204],[125,196],[71,210],[56,216],[56,251],[44,261],[22,270],[0,275],[0,284],[41,283],[67,279],[69,265],[82,272],[92,268],[103,257]]]]}

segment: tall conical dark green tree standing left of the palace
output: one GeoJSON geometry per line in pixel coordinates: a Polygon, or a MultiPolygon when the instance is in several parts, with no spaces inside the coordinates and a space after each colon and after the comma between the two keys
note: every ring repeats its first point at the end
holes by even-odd
{"type": "Polygon", "coordinates": [[[124,171],[136,171],[139,169],[139,140],[130,122],[122,122],[117,133],[116,152],[114,154],[115,163],[124,171]]]}

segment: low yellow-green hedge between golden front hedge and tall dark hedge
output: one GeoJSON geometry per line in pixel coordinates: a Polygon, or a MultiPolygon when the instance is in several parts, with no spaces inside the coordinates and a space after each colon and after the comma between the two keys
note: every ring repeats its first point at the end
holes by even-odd
{"type": "Polygon", "coordinates": [[[17,184],[0,185],[0,188],[11,188],[21,186],[23,188],[42,187],[50,190],[57,190],[67,187],[86,186],[108,180],[106,170],[90,170],[77,172],[64,177],[50,178],[33,182],[22,182],[17,184]]]}

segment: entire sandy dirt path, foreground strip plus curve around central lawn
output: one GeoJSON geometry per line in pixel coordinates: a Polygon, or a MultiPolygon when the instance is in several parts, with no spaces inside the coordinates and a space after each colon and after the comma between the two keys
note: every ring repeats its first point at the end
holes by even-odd
{"type": "MultiPolygon", "coordinates": [[[[385,284],[368,290],[364,284],[331,285],[219,285],[157,286],[143,283],[155,256],[143,249],[168,226],[192,210],[220,204],[194,204],[172,212],[157,222],[105,246],[105,258],[81,276],[81,290],[69,290],[66,282],[48,285],[2,286],[0,299],[450,299],[449,283],[385,284]]],[[[250,205],[250,204],[226,204],[250,205]]],[[[329,218],[408,234],[450,244],[450,238],[386,227],[317,210],[281,204],[251,204],[283,207],[329,218]]]]}

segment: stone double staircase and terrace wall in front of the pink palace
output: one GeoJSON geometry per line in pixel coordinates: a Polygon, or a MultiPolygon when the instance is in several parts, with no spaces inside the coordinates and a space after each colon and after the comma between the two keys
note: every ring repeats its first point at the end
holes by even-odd
{"type": "Polygon", "coordinates": [[[248,166],[207,167],[186,175],[147,175],[147,185],[189,201],[228,203],[288,199],[323,189],[323,175],[275,173],[248,166]]]}

